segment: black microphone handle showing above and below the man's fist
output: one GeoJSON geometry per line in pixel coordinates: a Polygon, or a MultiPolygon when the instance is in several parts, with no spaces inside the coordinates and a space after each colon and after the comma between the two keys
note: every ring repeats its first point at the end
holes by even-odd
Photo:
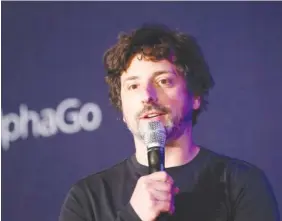
{"type": "MultiPolygon", "coordinates": [[[[164,171],[164,148],[163,147],[150,147],[148,148],[148,164],[149,164],[149,173],[154,173],[158,171],[164,171]]],[[[167,221],[168,213],[161,213],[157,221],[167,221]]]]}

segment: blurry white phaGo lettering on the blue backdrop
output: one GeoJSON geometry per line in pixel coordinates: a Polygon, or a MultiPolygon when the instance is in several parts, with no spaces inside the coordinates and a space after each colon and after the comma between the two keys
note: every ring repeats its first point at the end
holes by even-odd
{"type": "Polygon", "coordinates": [[[12,142],[33,137],[50,137],[58,132],[77,133],[93,131],[102,122],[102,111],[95,103],[82,104],[77,98],[63,100],[56,109],[44,108],[40,112],[19,106],[19,113],[2,113],[2,148],[8,150],[12,142]]]}

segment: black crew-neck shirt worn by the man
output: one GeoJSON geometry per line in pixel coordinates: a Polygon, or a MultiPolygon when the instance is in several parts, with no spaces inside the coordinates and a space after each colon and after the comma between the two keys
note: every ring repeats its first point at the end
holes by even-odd
{"type": "MultiPolygon", "coordinates": [[[[264,173],[241,160],[201,147],[183,166],[166,171],[179,187],[170,221],[279,221],[264,173]]],[[[138,221],[129,200],[148,168],[135,155],[72,186],[60,221],[138,221]]]]}

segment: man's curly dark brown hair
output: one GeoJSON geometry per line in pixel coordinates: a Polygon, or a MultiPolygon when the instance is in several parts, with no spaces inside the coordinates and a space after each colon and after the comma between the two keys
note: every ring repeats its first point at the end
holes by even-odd
{"type": "Polygon", "coordinates": [[[214,86],[196,40],[163,24],[144,24],[130,33],[121,33],[118,42],[103,57],[109,98],[118,110],[121,110],[121,73],[137,54],[151,61],[167,59],[184,75],[188,90],[201,98],[200,108],[192,113],[192,123],[195,125],[199,113],[207,108],[209,89],[214,86]]]}

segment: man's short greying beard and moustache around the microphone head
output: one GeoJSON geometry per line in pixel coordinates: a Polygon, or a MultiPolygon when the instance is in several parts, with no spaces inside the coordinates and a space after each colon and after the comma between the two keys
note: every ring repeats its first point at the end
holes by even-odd
{"type": "Polygon", "coordinates": [[[136,114],[135,125],[131,127],[127,124],[127,127],[134,137],[144,142],[144,133],[146,132],[148,122],[141,120],[140,117],[149,111],[164,113],[164,121],[162,123],[166,130],[166,142],[170,143],[179,138],[192,122],[192,109],[187,109],[183,108],[181,113],[173,116],[172,111],[165,106],[153,103],[147,104],[136,114]]]}

